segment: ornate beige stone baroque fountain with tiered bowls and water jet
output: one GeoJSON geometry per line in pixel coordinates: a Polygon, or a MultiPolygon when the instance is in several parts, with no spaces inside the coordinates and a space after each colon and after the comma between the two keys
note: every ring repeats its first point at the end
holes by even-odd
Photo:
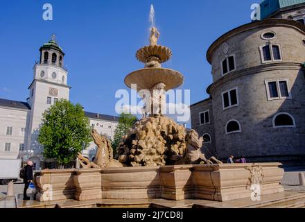
{"type": "Polygon", "coordinates": [[[151,8],[150,45],[136,53],[144,68],[125,78],[128,87],[137,85],[139,94],[146,95],[146,108],[143,119],[122,138],[119,160],[113,159],[107,138],[94,131],[92,137],[98,145],[95,162],[85,162],[79,156],[82,169],[38,171],[34,178],[36,200],[44,206],[67,199],[102,205],[116,200],[128,205],[140,199],[146,204],[160,198],[226,201],[284,191],[281,164],[223,164],[215,157],[207,160],[200,151],[202,137],[164,116],[160,101],[166,90],[182,85],[184,76],[162,68],[172,52],[157,43],[160,33],[151,8]]]}

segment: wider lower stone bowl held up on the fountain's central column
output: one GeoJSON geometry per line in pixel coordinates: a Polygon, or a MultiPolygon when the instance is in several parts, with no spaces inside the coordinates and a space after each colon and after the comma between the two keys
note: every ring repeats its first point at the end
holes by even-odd
{"type": "Polygon", "coordinates": [[[146,68],[128,74],[125,77],[125,85],[131,88],[132,84],[137,84],[137,91],[141,89],[151,89],[158,83],[166,85],[165,90],[175,89],[183,84],[184,77],[180,72],[165,68],[146,68]]]}

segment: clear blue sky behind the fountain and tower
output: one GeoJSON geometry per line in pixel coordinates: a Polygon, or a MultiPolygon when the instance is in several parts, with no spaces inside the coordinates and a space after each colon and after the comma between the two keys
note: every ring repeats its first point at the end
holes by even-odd
{"type": "Polygon", "coordinates": [[[185,76],[191,103],[207,98],[211,66],[206,52],[225,32],[250,22],[260,0],[6,0],[0,2],[0,98],[26,101],[40,46],[55,33],[66,56],[70,100],[85,110],[116,114],[123,80],[143,68],[136,51],[148,44],[150,4],[155,6],[159,44],[173,51],[164,67],[185,76]],[[53,21],[44,21],[44,3],[53,21]]]}

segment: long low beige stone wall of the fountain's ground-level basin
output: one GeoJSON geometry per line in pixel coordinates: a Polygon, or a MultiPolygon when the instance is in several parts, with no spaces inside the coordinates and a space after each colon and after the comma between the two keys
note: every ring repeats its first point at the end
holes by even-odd
{"type": "Polygon", "coordinates": [[[153,199],[235,200],[250,198],[253,182],[261,195],[284,191],[280,163],[123,167],[109,169],[44,170],[35,174],[36,199],[96,200],[153,199]],[[258,171],[256,171],[258,169],[258,171]],[[72,180],[71,180],[72,178],[72,180]]]}

